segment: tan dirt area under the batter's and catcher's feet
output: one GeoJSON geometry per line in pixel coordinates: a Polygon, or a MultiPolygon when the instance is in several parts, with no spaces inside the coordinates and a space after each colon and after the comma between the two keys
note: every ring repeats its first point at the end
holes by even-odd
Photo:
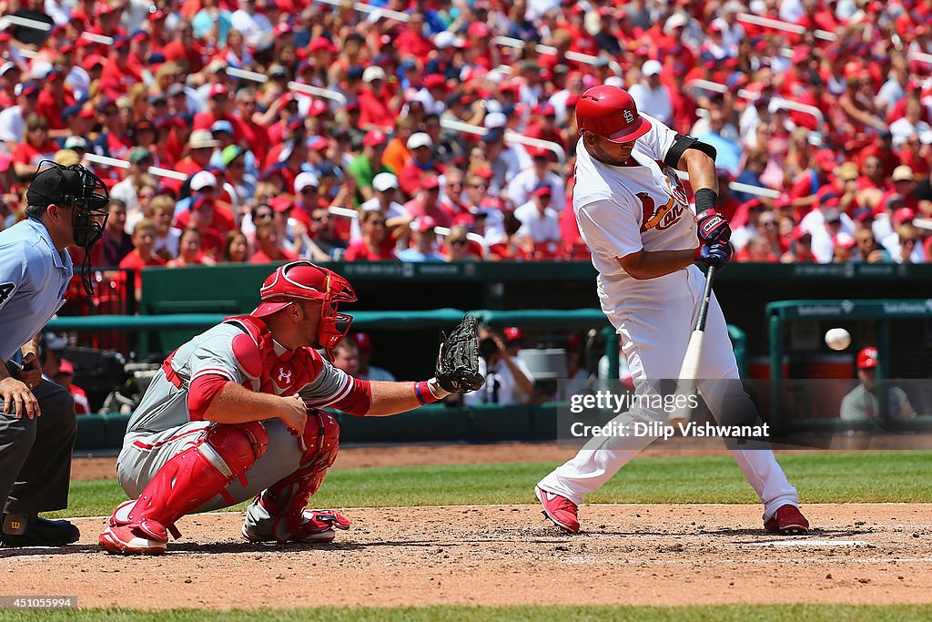
{"type": "Polygon", "coordinates": [[[585,505],[570,537],[530,505],[347,510],[322,546],[259,546],[240,514],[183,518],[158,558],[95,546],[0,549],[7,594],[81,606],[932,602],[932,505],[808,505],[816,531],[774,537],[752,505],[585,505]]]}

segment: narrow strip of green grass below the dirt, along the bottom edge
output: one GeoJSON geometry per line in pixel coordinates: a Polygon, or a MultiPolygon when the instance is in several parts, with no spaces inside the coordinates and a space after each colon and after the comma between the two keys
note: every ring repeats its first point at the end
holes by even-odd
{"type": "Polygon", "coordinates": [[[336,608],[320,609],[262,609],[207,611],[199,609],[171,609],[148,612],[131,609],[89,609],[66,612],[10,612],[0,611],[0,622],[17,620],[107,620],[108,622],[276,622],[278,620],[327,620],[328,622],[399,620],[404,622],[524,622],[526,620],[561,620],[566,622],[759,622],[779,620],[804,622],[806,620],[832,620],[833,622],[900,622],[928,620],[932,606],[850,606],[850,605],[717,605],[705,607],[404,607],[391,609],[336,608]]]}

